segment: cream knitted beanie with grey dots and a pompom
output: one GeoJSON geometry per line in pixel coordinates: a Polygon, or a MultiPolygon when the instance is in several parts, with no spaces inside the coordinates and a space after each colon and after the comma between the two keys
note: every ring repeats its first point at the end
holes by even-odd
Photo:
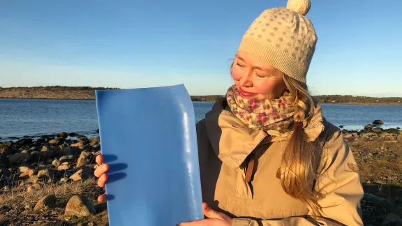
{"type": "Polygon", "coordinates": [[[288,0],[286,8],[265,10],[244,34],[238,51],[305,83],[317,43],[313,24],[304,17],[310,7],[309,0],[288,0]]]}

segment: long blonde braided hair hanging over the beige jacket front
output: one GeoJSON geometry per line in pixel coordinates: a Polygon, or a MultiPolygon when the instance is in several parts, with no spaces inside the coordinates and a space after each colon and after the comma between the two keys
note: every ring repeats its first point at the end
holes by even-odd
{"type": "Polygon", "coordinates": [[[303,128],[306,128],[308,121],[313,116],[314,102],[308,94],[305,84],[284,76],[285,83],[293,97],[295,122],[303,123],[302,128],[295,126],[292,136],[285,147],[282,156],[282,165],[279,169],[281,185],[285,193],[295,197],[310,209],[312,215],[317,217],[320,214],[318,199],[320,194],[313,188],[317,180],[316,167],[320,158],[315,142],[308,140],[303,128]]]}

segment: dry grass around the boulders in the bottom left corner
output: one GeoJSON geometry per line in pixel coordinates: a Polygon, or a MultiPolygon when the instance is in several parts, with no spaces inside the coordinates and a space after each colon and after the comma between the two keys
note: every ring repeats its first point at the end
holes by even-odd
{"type": "Polygon", "coordinates": [[[108,225],[107,212],[103,209],[87,218],[64,216],[71,196],[86,195],[93,204],[97,204],[96,198],[103,192],[103,188],[96,186],[96,179],[47,184],[31,193],[27,193],[25,186],[20,186],[0,195],[0,225],[108,225]],[[57,197],[55,206],[43,211],[33,210],[40,198],[51,194],[57,197]]]}

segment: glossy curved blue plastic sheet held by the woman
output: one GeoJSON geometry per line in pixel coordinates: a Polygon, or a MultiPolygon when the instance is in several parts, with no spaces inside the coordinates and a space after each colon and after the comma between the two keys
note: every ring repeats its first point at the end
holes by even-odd
{"type": "Polygon", "coordinates": [[[183,84],[96,91],[110,226],[202,219],[193,103],[183,84]]]}

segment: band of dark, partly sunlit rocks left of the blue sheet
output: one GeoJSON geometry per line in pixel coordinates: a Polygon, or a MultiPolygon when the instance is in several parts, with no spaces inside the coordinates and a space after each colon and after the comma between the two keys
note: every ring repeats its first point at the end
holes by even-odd
{"type": "Polygon", "coordinates": [[[33,192],[45,183],[93,178],[94,160],[100,153],[99,137],[89,140],[77,135],[77,140],[73,141],[66,140],[68,135],[64,132],[57,137],[0,142],[1,188],[23,183],[33,192]],[[11,183],[14,174],[17,181],[11,183]]]}

